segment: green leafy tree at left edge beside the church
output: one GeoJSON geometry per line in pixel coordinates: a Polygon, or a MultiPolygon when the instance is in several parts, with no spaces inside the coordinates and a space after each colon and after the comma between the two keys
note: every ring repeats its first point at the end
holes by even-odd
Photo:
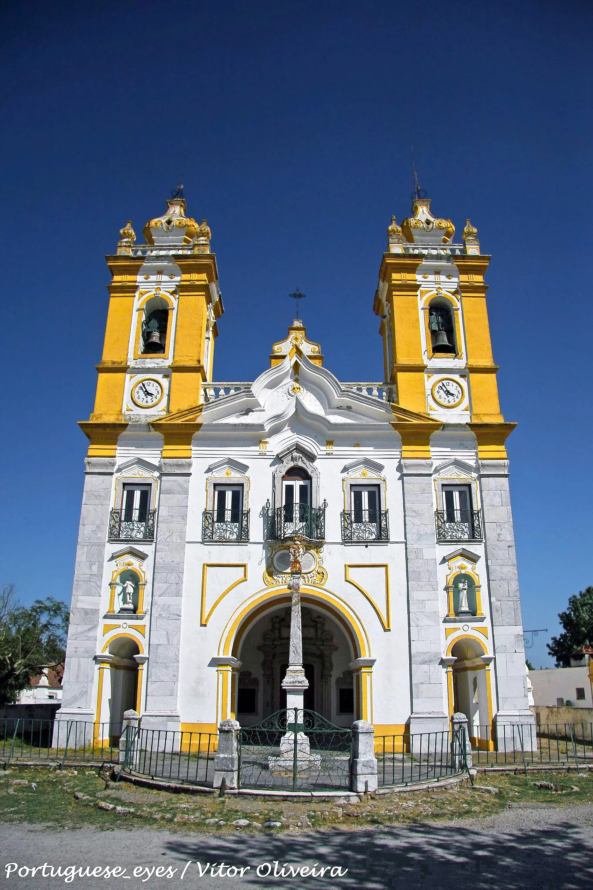
{"type": "Polygon", "coordinates": [[[0,705],[11,704],[31,677],[55,667],[66,656],[68,606],[48,596],[28,609],[14,587],[0,593],[0,705]]]}

